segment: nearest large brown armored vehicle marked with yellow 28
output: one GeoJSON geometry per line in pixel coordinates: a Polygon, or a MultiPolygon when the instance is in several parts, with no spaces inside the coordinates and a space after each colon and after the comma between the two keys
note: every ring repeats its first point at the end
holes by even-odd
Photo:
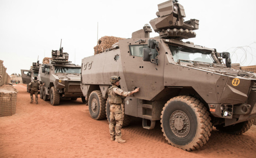
{"type": "Polygon", "coordinates": [[[81,90],[91,117],[109,118],[107,90],[116,75],[124,91],[140,87],[122,105],[125,126],[130,116],[143,118],[145,129],[160,120],[168,143],[188,151],[207,143],[212,126],[234,135],[246,132],[256,117],[256,73],[231,69],[228,52],[183,42],[196,36],[199,21],[184,22],[177,1],[161,3],[158,10],[150,24],[159,37],[149,38],[151,27],[145,25],[131,39],[82,59],[81,90]]]}

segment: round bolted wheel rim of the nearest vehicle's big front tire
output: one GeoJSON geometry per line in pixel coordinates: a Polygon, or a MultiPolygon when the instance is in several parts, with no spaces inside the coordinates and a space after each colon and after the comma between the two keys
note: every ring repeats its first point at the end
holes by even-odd
{"type": "Polygon", "coordinates": [[[172,133],[177,137],[184,138],[189,134],[191,127],[190,120],[183,111],[177,110],[173,112],[169,122],[172,133]]]}

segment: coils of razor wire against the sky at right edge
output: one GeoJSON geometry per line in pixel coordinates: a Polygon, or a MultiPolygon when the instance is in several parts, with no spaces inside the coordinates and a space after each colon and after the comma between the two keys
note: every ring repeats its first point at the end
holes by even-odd
{"type": "Polygon", "coordinates": [[[250,45],[229,48],[227,52],[230,52],[232,63],[239,63],[241,66],[256,65],[256,41],[250,45]]]}

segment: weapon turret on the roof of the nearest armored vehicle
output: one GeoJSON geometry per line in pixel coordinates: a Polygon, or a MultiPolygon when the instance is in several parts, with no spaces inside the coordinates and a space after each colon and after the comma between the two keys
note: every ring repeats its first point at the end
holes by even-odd
{"type": "Polygon", "coordinates": [[[158,4],[156,14],[157,18],[149,23],[161,38],[182,40],[195,37],[195,32],[192,30],[198,29],[199,20],[184,21],[183,18],[186,17],[186,14],[183,6],[177,3],[177,0],[158,4]]]}

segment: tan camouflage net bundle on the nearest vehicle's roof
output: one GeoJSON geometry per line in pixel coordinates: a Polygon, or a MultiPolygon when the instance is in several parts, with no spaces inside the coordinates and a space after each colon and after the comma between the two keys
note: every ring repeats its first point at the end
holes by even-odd
{"type": "Polygon", "coordinates": [[[125,38],[113,37],[113,36],[104,36],[101,37],[98,41],[98,45],[94,47],[94,55],[100,54],[108,48],[111,48],[113,44],[118,42],[118,40],[124,40],[125,38]],[[98,51],[97,51],[98,50],[98,51]],[[97,53],[98,52],[98,53],[97,53]]]}

